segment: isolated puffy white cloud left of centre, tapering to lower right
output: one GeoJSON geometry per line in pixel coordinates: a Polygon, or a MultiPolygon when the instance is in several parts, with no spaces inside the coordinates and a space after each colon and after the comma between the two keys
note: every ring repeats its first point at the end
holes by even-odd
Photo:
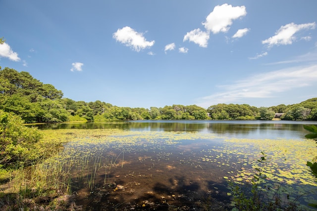
{"type": "Polygon", "coordinates": [[[153,46],[155,42],[147,41],[144,38],[143,33],[136,32],[134,29],[128,26],[118,29],[115,33],[113,33],[112,38],[138,52],[153,46]]]}

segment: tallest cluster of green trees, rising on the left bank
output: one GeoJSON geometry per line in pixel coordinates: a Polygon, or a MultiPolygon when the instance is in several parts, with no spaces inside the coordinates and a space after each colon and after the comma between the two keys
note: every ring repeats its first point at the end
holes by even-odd
{"type": "Polygon", "coordinates": [[[0,109],[19,115],[26,123],[67,121],[69,113],[57,102],[62,95],[27,72],[0,70],[0,109]]]}

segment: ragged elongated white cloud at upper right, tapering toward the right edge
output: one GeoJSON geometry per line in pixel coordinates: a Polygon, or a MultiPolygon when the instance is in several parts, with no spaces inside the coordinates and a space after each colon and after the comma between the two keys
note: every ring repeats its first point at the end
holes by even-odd
{"type": "Polygon", "coordinates": [[[305,30],[305,29],[315,29],[316,23],[306,23],[306,24],[294,24],[289,23],[285,26],[281,26],[277,32],[275,32],[275,35],[273,37],[270,37],[264,41],[262,41],[262,44],[268,44],[268,47],[271,47],[273,45],[280,45],[280,44],[292,44],[294,41],[296,41],[296,37],[294,36],[295,33],[305,30]]]}

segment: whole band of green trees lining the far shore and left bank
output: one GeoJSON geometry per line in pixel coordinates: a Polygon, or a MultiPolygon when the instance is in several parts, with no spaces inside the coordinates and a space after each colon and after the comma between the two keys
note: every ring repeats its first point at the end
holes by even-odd
{"type": "Polygon", "coordinates": [[[43,84],[28,72],[0,67],[0,110],[12,112],[25,123],[112,120],[317,120],[317,97],[293,105],[255,107],[248,104],[216,104],[163,108],[118,107],[110,103],[74,101],[52,84],[43,84]]]}

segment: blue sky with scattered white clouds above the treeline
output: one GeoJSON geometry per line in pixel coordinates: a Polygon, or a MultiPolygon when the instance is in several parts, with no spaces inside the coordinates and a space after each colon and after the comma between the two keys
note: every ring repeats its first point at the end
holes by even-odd
{"type": "Polygon", "coordinates": [[[0,66],[124,107],[317,97],[316,0],[0,0],[0,66]]]}

